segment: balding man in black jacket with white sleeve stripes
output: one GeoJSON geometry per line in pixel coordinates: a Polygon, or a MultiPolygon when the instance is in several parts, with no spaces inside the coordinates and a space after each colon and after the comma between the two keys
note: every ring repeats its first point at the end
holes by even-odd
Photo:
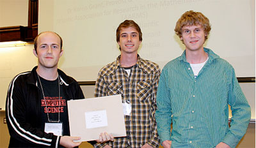
{"type": "MultiPolygon", "coordinates": [[[[53,32],[38,34],[33,53],[38,66],[13,78],[6,98],[9,147],[76,147],[70,137],[67,100],[84,98],[79,84],[63,71],[58,61],[62,39],[53,32]],[[63,136],[64,135],[64,136],[63,136]]],[[[113,140],[102,133],[97,142],[113,140]]]]}

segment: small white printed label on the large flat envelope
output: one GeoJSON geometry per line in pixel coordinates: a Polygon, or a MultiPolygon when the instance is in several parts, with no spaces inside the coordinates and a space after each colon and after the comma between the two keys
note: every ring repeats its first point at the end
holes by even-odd
{"type": "Polygon", "coordinates": [[[86,128],[100,128],[108,126],[106,110],[84,112],[86,128]]]}

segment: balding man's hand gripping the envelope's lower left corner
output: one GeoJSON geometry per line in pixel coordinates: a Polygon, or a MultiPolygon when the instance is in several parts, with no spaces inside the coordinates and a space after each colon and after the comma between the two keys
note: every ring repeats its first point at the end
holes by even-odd
{"type": "Polygon", "coordinates": [[[80,137],[69,137],[69,136],[63,136],[60,138],[60,145],[63,147],[77,147],[82,142],[74,142],[73,140],[80,140],[80,137]]]}

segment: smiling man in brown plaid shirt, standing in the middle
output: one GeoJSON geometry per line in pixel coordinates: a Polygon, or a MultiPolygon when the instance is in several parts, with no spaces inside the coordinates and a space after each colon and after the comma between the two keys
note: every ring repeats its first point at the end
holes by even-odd
{"type": "Polygon", "coordinates": [[[127,137],[93,146],[159,147],[155,120],[159,66],[138,55],[142,33],[133,20],[118,26],[116,41],[121,55],[99,71],[95,97],[122,94],[127,137]]]}

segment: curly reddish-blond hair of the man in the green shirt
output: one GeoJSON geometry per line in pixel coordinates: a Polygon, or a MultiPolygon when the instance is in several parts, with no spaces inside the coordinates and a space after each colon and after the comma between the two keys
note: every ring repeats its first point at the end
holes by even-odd
{"type": "Polygon", "coordinates": [[[205,40],[207,40],[208,35],[211,31],[211,24],[209,22],[209,19],[205,17],[201,12],[196,12],[193,10],[186,11],[177,21],[174,31],[181,38],[182,27],[194,25],[200,25],[204,28],[204,33],[206,35],[205,40]]]}

